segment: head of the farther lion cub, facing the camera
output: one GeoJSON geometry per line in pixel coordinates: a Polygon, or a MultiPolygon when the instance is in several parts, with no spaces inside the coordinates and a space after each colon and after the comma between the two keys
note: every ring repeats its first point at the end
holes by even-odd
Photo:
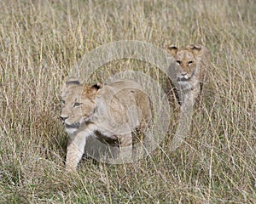
{"type": "Polygon", "coordinates": [[[189,45],[185,48],[169,46],[167,50],[179,67],[177,81],[189,81],[198,74],[196,69],[203,51],[201,45],[189,45]]]}

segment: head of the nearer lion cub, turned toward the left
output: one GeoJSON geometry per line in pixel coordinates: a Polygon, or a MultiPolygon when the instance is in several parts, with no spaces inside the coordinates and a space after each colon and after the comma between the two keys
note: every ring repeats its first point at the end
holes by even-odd
{"type": "Polygon", "coordinates": [[[94,111],[96,94],[100,88],[102,83],[90,86],[80,84],[74,78],[67,80],[61,96],[61,120],[67,130],[77,130],[94,111]]]}

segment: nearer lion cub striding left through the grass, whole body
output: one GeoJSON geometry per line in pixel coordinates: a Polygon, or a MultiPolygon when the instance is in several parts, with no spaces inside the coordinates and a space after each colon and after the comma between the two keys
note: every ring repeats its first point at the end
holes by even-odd
{"type": "MultiPolygon", "coordinates": [[[[67,170],[78,166],[89,136],[109,145],[131,147],[131,132],[147,127],[151,120],[148,96],[131,80],[90,86],[70,78],[61,101],[61,120],[69,135],[67,170]]],[[[131,148],[128,150],[131,156],[131,148]]]]}

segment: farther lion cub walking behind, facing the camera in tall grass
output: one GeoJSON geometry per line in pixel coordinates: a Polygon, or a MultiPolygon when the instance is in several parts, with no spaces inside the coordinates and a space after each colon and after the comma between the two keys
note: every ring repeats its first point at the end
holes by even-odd
{"type": "Polygon", "coordinates": [[[184,95],[191,93],[193,99],[201,95],[202,87],[207,79],[207,69],[210,54],[207,48],[202,45],[188,45],[184,48],[169,46],[169,54],[177,63],[177,88],[181,94],[181,103],[184,102],[184,95]]]}

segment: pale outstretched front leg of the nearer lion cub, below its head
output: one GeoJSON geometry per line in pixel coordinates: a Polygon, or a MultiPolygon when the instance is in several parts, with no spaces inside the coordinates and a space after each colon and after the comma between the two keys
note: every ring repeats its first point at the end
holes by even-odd
{"type": "Polygon", "coordinates": [[[67,171],[76,171],[76,168],[84,154],[84,146],[86,143],[86,136],[79,135],[74,139],[69,139],[67,144],[67,159],[66,169],[67,171]]]}

